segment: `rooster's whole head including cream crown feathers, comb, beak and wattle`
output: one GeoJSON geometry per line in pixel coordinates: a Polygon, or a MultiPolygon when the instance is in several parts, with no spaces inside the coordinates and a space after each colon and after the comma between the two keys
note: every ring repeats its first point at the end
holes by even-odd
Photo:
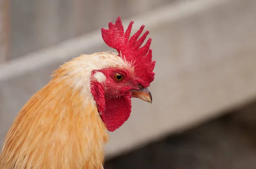
{"type": "Polygon", "coordinates": [[[149,31],[140,37],[144,28],[142,25],[130,38],[132,25],[133,21],[124,32],[121,18],[118,17],[115,24],[109,23],[109,29],[102,28],[103,40],[118,53],[106,51],[82,55],[71,64],[66,64],[68,70],[72,70],[69,78],[76,78],[76,86],[89,84],[90,91],[85,87],[84,95],[90,93],[109,131],[116,130],[127,121],[131,113],[132,97],[150,103],[152,101],[147,88],[155,74],[151,39],[141,47],[149,31]],[[88,78],[90,82],[85,82],[88,78]]]}

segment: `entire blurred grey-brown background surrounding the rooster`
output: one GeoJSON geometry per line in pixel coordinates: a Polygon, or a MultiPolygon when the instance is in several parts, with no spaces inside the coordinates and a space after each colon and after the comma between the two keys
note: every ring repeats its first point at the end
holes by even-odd
{"type": "Polygon", "coordinates": [[[255,169],[255,0],[0,0],[0,148],[53,70],[113,50],[100,28],[118,16],[150,31],[156,76],[105,169],[255,169]]]}

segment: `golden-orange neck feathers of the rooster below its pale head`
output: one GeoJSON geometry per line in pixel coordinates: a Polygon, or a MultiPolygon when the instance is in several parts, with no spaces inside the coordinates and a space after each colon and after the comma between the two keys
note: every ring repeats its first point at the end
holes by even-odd
{"type": "Polygon", "coordinates": [[[12,124],[0,168],[100,168],[107,140],[92,96],[54,78],[32,96],[12,124]]]}

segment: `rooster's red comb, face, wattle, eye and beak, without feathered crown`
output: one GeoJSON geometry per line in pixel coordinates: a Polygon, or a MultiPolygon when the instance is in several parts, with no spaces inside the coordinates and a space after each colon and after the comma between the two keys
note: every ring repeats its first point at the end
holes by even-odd
{"type": "Polygon", "coordinates": [[[152,101],[147,88],[155,74],[155,61],[152,62],[150,49],[151,38],[141,47],[149,33],[146,31],[139,38],[144,25],[130,38],[133,23],[131,21],[124,32],[121,17],[118,17],[115,24],[108,24],[108,29],[102,28],[104,42],[116,49],[119,58],[124,62],[121,68],[111,67],[95,71],[94,77],[98,77],[99,81],[94,81],[91,85],[100,116],[109,131],[116,130],[129,118],[132,97],[150,103],[152,101]]]}

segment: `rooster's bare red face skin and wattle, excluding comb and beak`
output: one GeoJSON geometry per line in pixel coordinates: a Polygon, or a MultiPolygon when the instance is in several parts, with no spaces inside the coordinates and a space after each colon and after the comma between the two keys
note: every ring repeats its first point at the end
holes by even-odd
{"type": "Polygon", "coordinates": [[[99,70],[106,76],[105,83],[91,79],[91,93],[96,101],[99,114],[107,129],[111,132],[118,129],[131,114],[131,89],[139,90],[139,84],[128,70],[108,68],[99,70]],[[122,81],[116,81],[114,75],[124,76],[122,81]]]}

